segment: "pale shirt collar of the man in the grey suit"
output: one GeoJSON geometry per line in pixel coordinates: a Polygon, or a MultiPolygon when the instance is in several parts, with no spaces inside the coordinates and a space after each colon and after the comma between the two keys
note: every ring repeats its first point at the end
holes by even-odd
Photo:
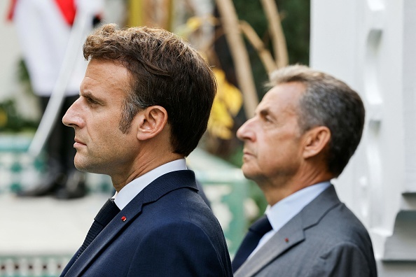
{"type": "Polygon", "coordinates": [[[297,215],[307,204],[324,192],[331,183],[329,181],[310,185],[289,195],[273,206],[268,206],[265,213],[268,216],[273,231],[277,232],[289,220],[297,215]]]}

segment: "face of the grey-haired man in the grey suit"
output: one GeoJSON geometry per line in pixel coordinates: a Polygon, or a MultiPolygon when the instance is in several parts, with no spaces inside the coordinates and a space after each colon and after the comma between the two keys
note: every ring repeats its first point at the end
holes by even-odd
{"type": "Polygon", "coordinates": [[[237,131],[244,141],[244,176],[257,183],[279,183],[293,176],[302,158],[298,127],[298,101],[305,91],[301,83],[273,87],[251,118],[237,131]]]}

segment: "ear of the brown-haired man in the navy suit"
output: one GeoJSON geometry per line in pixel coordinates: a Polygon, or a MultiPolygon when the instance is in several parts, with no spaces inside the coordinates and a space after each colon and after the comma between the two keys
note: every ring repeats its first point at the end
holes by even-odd
{"type": "Polygon", "coordinates": [[[150,106],[139,112],[139,125],[137,139],[145,141],[151,139],[165,128],[167,124],[167,111],[162,106],[150,106]]]}

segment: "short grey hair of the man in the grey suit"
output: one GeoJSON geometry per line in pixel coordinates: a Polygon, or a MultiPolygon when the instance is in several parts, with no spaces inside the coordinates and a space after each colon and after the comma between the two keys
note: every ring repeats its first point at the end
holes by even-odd
{"type": "Polygon", "coordinates": [[[341,80],[298,64],[270,73],[268,86],[291,82],[305,85],[298,106],[301,133],[318,126],[331,131],[326,162],[338,177],[361,140],[366,114],[363,101],[341,80]]]}

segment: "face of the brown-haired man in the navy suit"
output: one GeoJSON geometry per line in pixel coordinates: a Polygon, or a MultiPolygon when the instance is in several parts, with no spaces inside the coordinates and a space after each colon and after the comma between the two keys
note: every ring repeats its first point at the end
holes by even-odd
{"type": "Polygon", "coordinates": [[[120,118],[129,73],[120,64],[92,59],[80,87],[80,97],[62,122],[74,127],[77,169],[92,173],[128,174],[137,155],[134,127],[123,134],[120,118]]]}

